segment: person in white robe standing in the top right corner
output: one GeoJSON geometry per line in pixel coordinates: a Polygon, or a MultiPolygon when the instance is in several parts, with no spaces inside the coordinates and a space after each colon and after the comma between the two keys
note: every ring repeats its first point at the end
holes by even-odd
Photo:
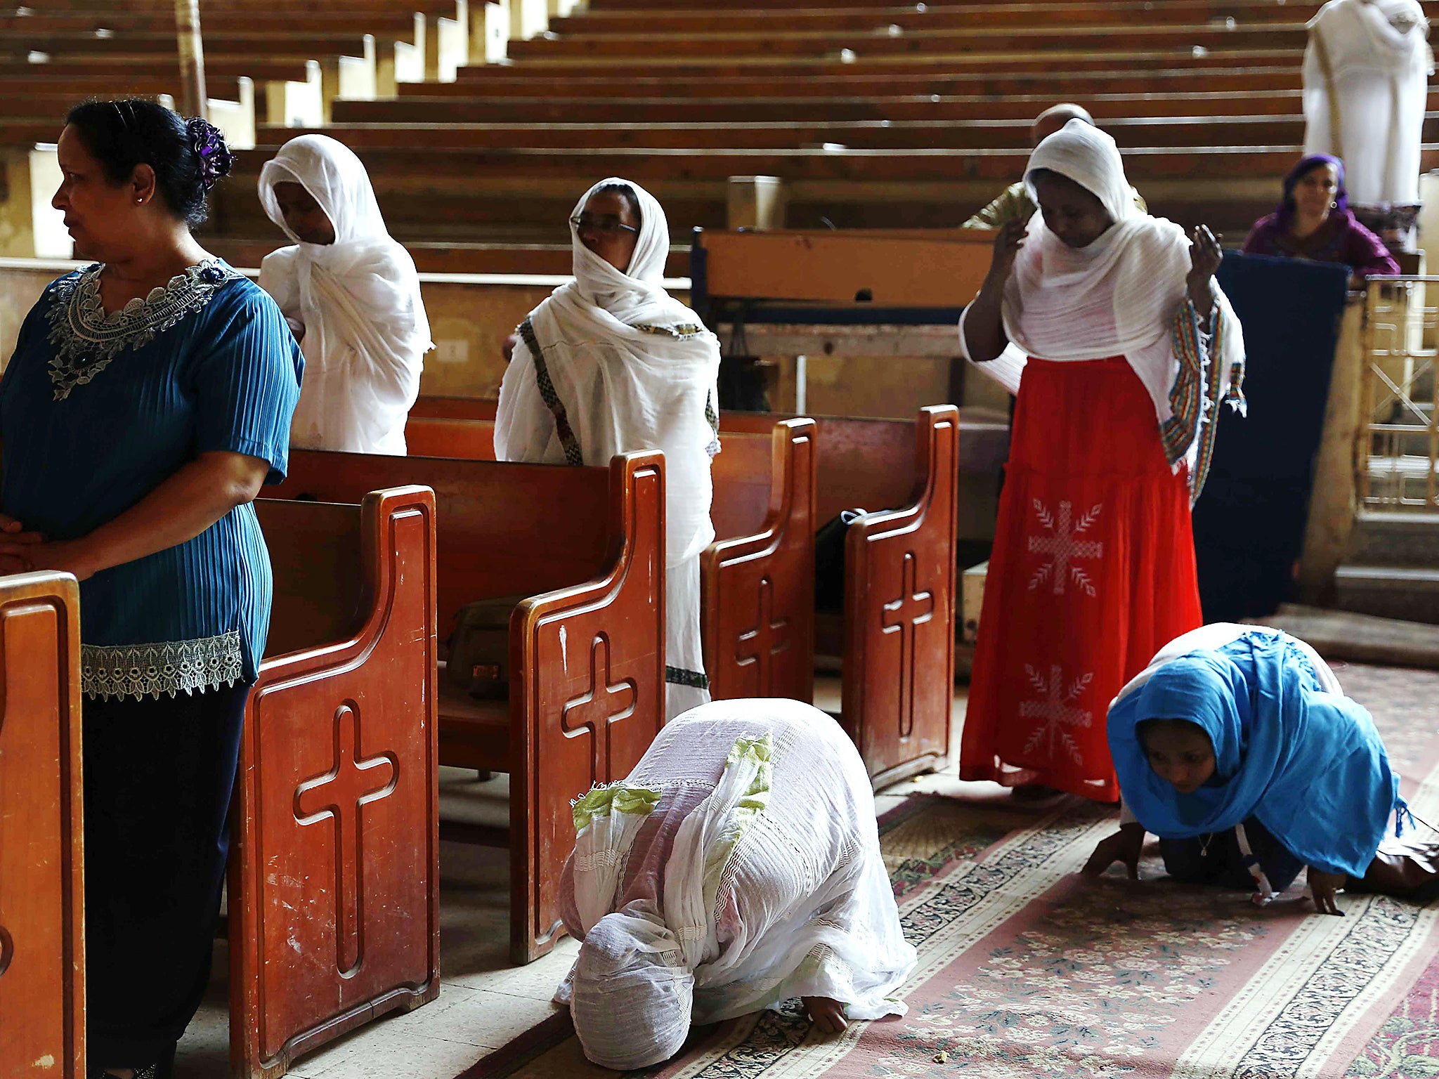
{"type": "Polygon", "coordinates": [[[1419,201],[1433,53],[1419,0],[1330,0],[1304,52],[1304,152],[1343,158],[1350,203],[1419,201]]]}

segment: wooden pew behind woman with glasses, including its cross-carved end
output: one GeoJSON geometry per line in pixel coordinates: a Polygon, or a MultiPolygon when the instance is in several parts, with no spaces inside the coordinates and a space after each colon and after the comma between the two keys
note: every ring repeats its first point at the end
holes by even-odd
{"type": "MultiPolygon", "coordinates": [[[[492,401],[429,397],[410,453],[495,459],[492,401]]],[[[725,432],[711,462],[715,542],[701,555],[705,673],[717,701],[814,698],[814,424],[725,432]]]]}

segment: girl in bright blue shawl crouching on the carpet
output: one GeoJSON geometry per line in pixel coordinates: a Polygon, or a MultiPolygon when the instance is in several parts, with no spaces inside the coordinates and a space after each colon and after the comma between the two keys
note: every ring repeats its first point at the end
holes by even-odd
{"type": "Polygon", "coordinates": [[[1124,793],[1120,832],[1086,873],[1122,860],[1138,879],[1147,832],[1170,876],[1268,902],[1308,866],[1315,908],[1335,895],[1423,895],[1439,850],[1396,842],[1412,820],[1368,712],[1318,655],[1278,630],[1206,626],[1166,646],[1109,706],[1124,793]],[[1390,817],[1396,836],[1386,842],[1390,817]]]}

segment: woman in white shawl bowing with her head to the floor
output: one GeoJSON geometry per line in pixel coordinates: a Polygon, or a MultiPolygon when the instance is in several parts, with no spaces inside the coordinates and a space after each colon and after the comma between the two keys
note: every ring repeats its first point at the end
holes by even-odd
{"type": "Polygon", "coordinates": [[[586,1056],[673,1056],[691,1024],[803,998],[837,1033],[902,1016],[914,970],[853,742],[799,701],[717,701],[668,724],[574,807],[560,911],[583,941],[555,1000],[586,1056]]]}

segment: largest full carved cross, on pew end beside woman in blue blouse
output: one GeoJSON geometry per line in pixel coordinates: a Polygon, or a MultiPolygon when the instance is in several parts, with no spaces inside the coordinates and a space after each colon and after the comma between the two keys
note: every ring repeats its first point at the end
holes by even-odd
{"type": "Polygon", "coordinates": [[[394,754],[360,758],[360,714],[335,709],[335,764],[295,788],[295,821],[335,821],[335,964],[348,977],[358,968],[364,935],[364,821],[361,806],[389,797],[400,775],[394,754]]]}

